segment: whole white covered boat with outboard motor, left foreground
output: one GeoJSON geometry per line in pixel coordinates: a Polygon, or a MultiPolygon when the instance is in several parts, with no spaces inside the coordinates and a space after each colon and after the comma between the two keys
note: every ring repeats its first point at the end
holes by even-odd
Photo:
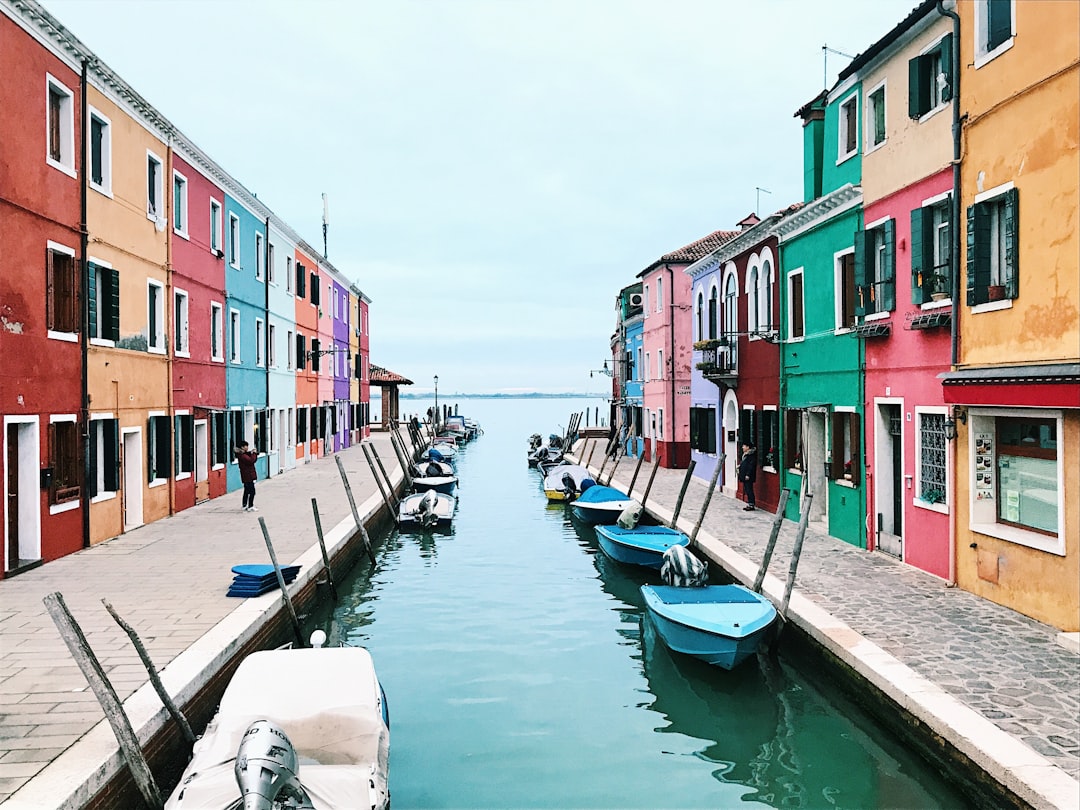
{"type": "Polygon", "coordinates": [[[386,810],[390,715],[362,647],[254,652],[165,810],[386,810]]]}

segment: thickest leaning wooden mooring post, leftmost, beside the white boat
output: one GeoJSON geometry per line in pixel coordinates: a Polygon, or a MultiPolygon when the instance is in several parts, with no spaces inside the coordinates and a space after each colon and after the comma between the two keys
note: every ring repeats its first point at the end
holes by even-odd
{"type": "Polygon", "coordinates": [[[64,644],[67,645],[76,663],[79,664],[79,669],[82,670],[86,683],[90,684],[90,688],[97,697],[97,702],[105,710],[105,716],[112,727],[112,733],[116,735],[120,751],[127,762],[127,768],[132,772],[132,779],[135,781],[138,792],[143,795],[143,800],[150,810],[162,810],[164,804],[161,799],[161,791],[158,789],[158,783],[154,781],[153,773],[150,772],[150,766],[147,765],[146,757],[143,755],[143,747],[139,745],[138,738],[135,737],[131,720],[124,714],[124,705],[120,702],[120,698],[117,697],[117,691],[112,688],[112,684],[97,660],[97,656],[91,649],[86,636],[83,635],[82,627],[79,626],[75,617],[67,609],[67,605],[64,604],[64,596],[60,595],[59,591],[49,594],[42,602],[45,603],[49,615],[53,618],[56,629],[60,632],[64,644]]]}

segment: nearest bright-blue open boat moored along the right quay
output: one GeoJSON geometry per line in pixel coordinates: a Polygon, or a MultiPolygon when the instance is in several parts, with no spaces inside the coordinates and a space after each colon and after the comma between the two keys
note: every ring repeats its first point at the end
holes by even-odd
{"type": "Polygon", "coordinates": [[[725,670],[756,652],[777,618],[767,597],[742,585],[642,585],[642,596],[667,647],[725,670]]]}

